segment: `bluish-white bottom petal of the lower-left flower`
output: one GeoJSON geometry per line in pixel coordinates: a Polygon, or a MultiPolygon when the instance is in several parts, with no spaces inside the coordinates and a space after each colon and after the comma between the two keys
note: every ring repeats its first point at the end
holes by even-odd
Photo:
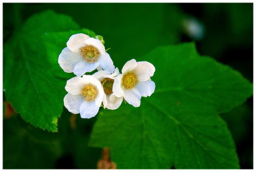
{"type": "Polygon", "coordinates": [[[81,118],[92,118],[99,112],[100,107],[95,102],[84,101],[80,106],[81,118]]]}

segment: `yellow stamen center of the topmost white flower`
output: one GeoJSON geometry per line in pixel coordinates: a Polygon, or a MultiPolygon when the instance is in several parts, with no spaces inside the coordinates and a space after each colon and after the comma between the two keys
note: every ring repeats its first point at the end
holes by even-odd
{"type": "Polygon", "coordinates": [[[99,57],[98,49],[96,49],[92,45],[89,45],[87,47],[82,47],[81,52],[84,60],[87,62],[97,61],[97,58],[99,57]]]}

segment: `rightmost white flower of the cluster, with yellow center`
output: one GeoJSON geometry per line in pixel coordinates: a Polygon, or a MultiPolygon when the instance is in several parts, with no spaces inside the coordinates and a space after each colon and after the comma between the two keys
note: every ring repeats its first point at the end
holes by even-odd
{"type": "Polygon", "coordinates": [[[131,59],[122,68],[113,84],[116,97],[124,96],[126,102],[134,107],[140,106],[141,97],[148,97],[154,93],[156,85],[150,77],[154,75],[155,67],[147,61],[136,62],[131,59]]]}

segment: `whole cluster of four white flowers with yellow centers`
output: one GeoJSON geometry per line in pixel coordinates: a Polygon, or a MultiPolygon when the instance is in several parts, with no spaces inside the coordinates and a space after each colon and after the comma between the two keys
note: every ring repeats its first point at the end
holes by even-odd
{"type": "Polygon", "coordinates": [[[156,87],[150,79],[155,72],[151,63],[131,59],[120,74],[103,43],[102,36],[72,35],[58,59],[65,72],[76,75],[67,81],[64,105],[70,113],[80,113],[81,118],[92,118],[102,104],[104,108],[117,109],[123,99],[139,107],[141,97],[152,95],[156,87]],[[95,74],[85,74],[95,69],[95,74]]]}

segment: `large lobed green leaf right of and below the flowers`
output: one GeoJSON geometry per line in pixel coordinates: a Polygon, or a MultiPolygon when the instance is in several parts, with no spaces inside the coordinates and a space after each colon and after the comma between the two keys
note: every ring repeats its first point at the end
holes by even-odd
{"type": "Polygon", "coordinates": [[[139,61],[156,67],[156,90],[141,106],[102,111],[90,146],[110,147],[118,169],[239,168],[234,141],[218,113],[252,95],[232,68],[200,57],[194,43],[158,47],[139,61]]]}

